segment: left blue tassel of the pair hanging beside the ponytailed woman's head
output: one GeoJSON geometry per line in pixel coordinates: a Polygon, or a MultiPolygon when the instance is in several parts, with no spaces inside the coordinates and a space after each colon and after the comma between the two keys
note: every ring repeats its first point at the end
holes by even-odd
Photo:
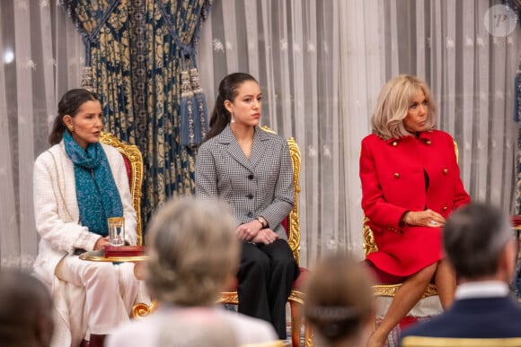
{"type": "Polygon", "coordinates": [[[181,71],[181,145],[194,146],[194,119],[197,119],[196,100],[190,87],[188,71],[181,71]],[[194,112],[195,111],[195,112],[194,112]]]}

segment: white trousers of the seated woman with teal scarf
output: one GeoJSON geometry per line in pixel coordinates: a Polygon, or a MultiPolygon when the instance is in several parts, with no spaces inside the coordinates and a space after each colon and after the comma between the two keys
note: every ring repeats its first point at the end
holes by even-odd
{"type": "Polygon", "coordinates": [[[84,317],[91,334],[110,334],[129,320],[139,289],[133,263],[112,265],[65,256],[55,273],[62,281],[84,287],[84,317]]]}

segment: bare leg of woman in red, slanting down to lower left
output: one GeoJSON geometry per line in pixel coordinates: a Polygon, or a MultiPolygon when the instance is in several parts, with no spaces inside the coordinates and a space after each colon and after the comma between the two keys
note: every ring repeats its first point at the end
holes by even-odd
{"type": "Polygon", "coordinates": [[[394,294],[393,301],[382,320],[382,323],[375,332],[369,337],[367,347],[382,347],[387,335],[402,320],[405,315],[416,305],[421,299],[428,286],[428,282],[436,272],[437,263],[428,265],[408,277],[402,287],[394,294]]]}

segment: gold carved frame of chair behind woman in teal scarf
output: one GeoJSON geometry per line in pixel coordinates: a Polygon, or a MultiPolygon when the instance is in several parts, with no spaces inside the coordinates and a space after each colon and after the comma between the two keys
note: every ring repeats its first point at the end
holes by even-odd
{"type": "Polygon", "coordinates": [[[143,156],[141,151],[135,144],[123,143],[113,134],[102,131],[100,142],[109,144],[118,149],[118,151],[127,158],[130,163],[131,181],[130,194],[132,195],[132,204],[136,210],[136,233],[137,245],[143,244],[143,232],[141,227],[141,185],[143,183],[143,156]]]}

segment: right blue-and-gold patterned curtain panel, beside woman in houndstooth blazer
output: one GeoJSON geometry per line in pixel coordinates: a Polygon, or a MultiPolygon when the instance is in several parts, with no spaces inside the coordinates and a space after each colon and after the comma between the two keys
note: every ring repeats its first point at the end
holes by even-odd
{"type": "Polygon", "coordinates": [[[146,152],[150,154],[146,199],[148,213],[164,197],[191,194],[194,189],[195,146],[181,145],[181,72],[195,54],[207,1],[146,3],[146,69],[150,74],[146,95],[148,126],[146,152]]]}

